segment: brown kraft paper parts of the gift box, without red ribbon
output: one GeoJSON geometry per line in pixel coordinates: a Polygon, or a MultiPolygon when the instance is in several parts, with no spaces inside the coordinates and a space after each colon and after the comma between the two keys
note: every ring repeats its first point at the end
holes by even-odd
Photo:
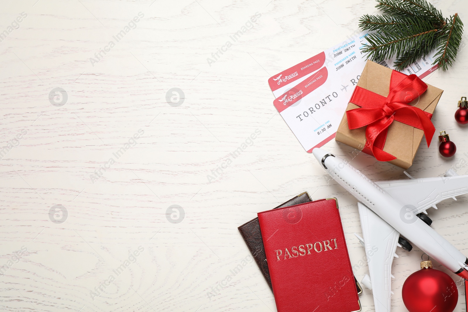
{"type": "MultiPolygon", "coordinates": [[[[357,86],[387,97],[389,94],[391,77],[392,69],[372,61],[367,61],[357,86]]],[[[408,105],[432,114],[439,102],[442,92],[443,90],[439,88],[427,85],[427,90],[412,102],[409,102],[408,105]]],[[[358,109],[359,107],[360,106],[349,102],[346,111],[358,109]]],[[[423,135],[423,130],[394,120],[388,127],[387,138],[383,146],[384,152],[388,152],[396,157],[395,160],[390,160],[389,162],[398,167],[408,169],[413,163],[423,135]]],[[[335,139],[336,141],[362,151],[366,146],[366,126],[353,130],[349,129],[348,118],[345,113],[336,131],[335,139]]],[[[429,142],[431,139],[432,138],[428,138],[429,142]]],[[[368,148],[365,149],[364,152],[370,152],[369,154],[372,154],[372,151],[368,148]]]]}

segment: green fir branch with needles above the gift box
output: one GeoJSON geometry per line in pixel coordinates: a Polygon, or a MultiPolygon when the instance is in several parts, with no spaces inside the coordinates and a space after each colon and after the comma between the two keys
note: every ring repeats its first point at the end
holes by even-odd
{"type": "Polygon", "coordinates": [[[458,14],[443,17],[426,0],[377,0],[385,15],[364,15],[359,27],[373,31],[363,51],[367,58],[382,61],[396,55],[395,67],[404,69],[436,50],[435,61],[446,70],[452,65],[461,43],[463,23],[458,14]]]}

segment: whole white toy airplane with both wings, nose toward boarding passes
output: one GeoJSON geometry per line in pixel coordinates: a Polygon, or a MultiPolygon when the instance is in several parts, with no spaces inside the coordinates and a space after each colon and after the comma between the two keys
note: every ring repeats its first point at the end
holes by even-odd
{"type": "MultiPolygon", "coordinates": [[[[320,148],[312,151],[325,171],[358,199],[369,274],[362,283],[372,290],[375,312],[390,312],[391,267],[396,247],[411,250],[408,240],[458,276],[468,280],[468,258],[431,228],[428,208],[468,193],[468,175],[449,169],[444,177],[373,182],[346,160],[320,148]],[[401,237],[401,236],[403,237],[401,237]],[[377,251],[376,251],[377,250],[377,251]]],[[[405,172],[406,174],[406,172],[405,172]]],[[[465,281],[465,287],[468,282],[465,281]]]]}

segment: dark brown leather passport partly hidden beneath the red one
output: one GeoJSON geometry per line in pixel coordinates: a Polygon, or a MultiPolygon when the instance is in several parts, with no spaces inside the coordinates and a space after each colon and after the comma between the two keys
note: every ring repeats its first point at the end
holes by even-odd
{"type": "MultiPolygon", "coordinates": [[[[304,192],[273,209],[308,202],[312,202],[312,199],[307,192],[304,192]]],[[[252,253],[254,256],[258,268],[260,268],[260,271],[262,271],[263,277],[265,277],[268,286],[270,286],[270,289],[273,291],[273,288],[271,287],[270,272],[268,271],[268,264],[266,263],[265,249],[263,247],[263,239],[262,233],[260,232],[260,223],[258,222],[258,217],[239,226],[238,229],[239,232],[241,232],[242,238],[245,240],[247,247],[249,247],[250,253],[252,253]]]]}

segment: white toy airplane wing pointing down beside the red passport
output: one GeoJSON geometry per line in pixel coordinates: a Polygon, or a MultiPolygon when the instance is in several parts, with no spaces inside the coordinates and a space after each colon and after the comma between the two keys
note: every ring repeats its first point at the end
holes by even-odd
{"type": "Polygon", "coordinates": [[[372,290],[375,312],[390,312],[391,269],[393,258],[398,257],[395,250],[400,233],[362,203],[358,203],[358,208],[364,239],[355,235],[366,248],[370,274],[361,283],[372,290]]]}

